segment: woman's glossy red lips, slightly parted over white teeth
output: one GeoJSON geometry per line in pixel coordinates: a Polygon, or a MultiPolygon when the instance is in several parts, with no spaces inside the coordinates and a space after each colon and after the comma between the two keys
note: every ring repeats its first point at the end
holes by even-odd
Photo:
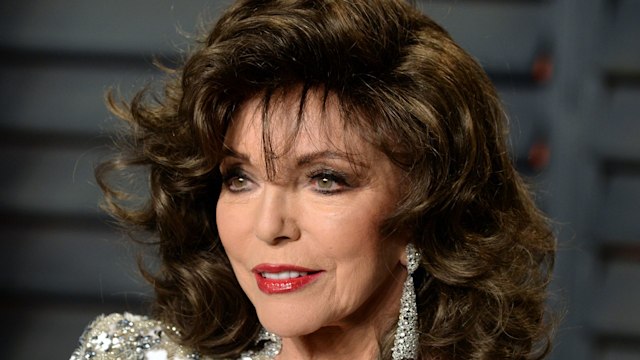
{"type": "Polygon", "coordinates": [[[252,269],[260,291],[282,294],[302,289],[314,282],[322,271],[294,265],[260,264],[252,269]]]}

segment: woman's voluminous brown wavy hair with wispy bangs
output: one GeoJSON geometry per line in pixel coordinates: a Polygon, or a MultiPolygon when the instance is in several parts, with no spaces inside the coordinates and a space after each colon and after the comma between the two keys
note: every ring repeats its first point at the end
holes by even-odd
{"type": "Polygon", "coordinates": [[[302,89],[302,109],[314,88],[335,94],[345,125],[408,179],[384,231],[409,231],[422,253],[420,358],[543,358],[555,241],[508,155],[496,91],[445,30],[396,0],[238,1],[163,91],[109,96],[129,126],[97,178],[113,215],[157,235],[155,316],[203,354],[253,346],[260,324],[215,224],[224,137],[249,98],[266,109],[302,89]],[[149,196],[131,203],[118,175],[140,166],[149,196]]]}

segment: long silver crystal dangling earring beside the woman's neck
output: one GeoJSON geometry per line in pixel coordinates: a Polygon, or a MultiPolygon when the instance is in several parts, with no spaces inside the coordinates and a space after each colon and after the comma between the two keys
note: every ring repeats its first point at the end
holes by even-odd
{"type": "Polygon", "coordinates": [[[400,316],[393,340],[393,360],[415,360],[418,356],[418,306],[413,286],[413,272],[420,265],[420,253],[413,244],[407,244],[407,279],[400,298],[400,316]]]}

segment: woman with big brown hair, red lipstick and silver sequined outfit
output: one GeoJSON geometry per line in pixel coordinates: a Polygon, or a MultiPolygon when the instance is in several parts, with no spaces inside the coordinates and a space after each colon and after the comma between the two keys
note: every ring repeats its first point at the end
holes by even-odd
{"type": "Polygon", "coordinates": [[[399,0],[243,0],[98,179],[157,234],[154,320],[72,359],[540,359],[554,240],[478,64],[399,0]],[[107,181],[145,166],[130,206],[107,181]]]}

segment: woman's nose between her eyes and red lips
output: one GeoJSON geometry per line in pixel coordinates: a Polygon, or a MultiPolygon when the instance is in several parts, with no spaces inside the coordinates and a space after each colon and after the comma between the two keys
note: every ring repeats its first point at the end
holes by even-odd
{"type": "Polygon", "coordinates": [[[293,208],[294,196],[280,186],[265,186],[256,214],[255,234],[258,239],[275,245],[300,238],[293,208]]]}

